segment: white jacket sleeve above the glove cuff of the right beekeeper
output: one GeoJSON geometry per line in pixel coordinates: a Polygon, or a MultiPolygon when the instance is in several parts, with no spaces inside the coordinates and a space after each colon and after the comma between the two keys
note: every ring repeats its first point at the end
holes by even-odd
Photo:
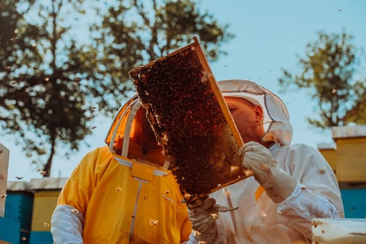
{"type": "Polygon", "coordinates": [[[299,183],[277,210],[307,239],[312,239],[313,218],[344,218],[337,179],[319,151],[298,144],[289,150],[284,168],[299,183]]]}

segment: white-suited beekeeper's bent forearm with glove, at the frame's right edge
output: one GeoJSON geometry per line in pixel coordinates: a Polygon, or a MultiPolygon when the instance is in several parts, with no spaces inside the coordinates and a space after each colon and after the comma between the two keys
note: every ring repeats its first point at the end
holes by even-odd
{"type": "Polygon", "coordinates": [[[312,238],[312,218],[336,218],[337,208],[323,195],[307,190],[296,178],[280,169],[268,148],[247,142],[239,149],[243,166],[252,169],[254,178],[266,190],[279,213],[288,218],[304,236],[312,238]]]}

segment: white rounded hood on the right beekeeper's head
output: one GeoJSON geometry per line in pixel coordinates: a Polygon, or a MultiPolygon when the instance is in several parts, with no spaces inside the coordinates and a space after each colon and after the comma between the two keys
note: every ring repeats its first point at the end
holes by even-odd
{"type": "Polygon", "coordinates": [[[275,141],[281,145],[291,144],[292,127],[289,112],[284,102],[263,86],[245,79],[230,79],[218,82],[224,97],[244,98],[260,105],[264,112],[264,142],[275,141]]]}

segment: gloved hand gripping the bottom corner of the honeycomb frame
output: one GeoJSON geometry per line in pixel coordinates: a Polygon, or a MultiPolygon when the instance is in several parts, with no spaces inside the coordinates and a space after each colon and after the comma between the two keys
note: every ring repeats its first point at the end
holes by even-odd
{"type": "Polygon", "coordinates": [[[213,198],[197,199],[188,204],[188,217],[193,229],[190,243],[215,243],[218,240],[218,211],[215,204],[213,198]]]}

